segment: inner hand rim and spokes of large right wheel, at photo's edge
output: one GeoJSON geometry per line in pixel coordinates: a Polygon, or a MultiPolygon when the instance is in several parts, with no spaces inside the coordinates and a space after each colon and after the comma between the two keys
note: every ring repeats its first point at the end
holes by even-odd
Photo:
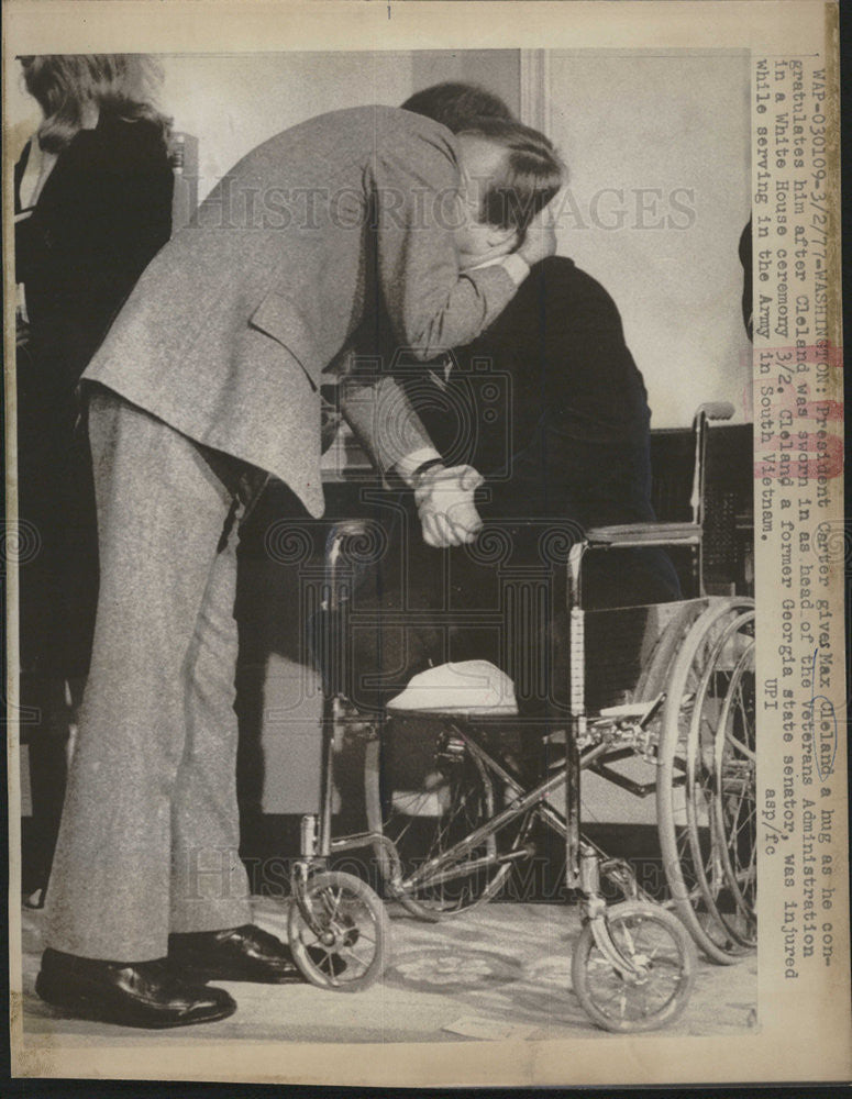
{"type": "Polygon", "coordinates": [[[757,807],[754,641],[731,674],[716,735],[713,829],[739,919],[731,930],[744,946],[757,943],[757,807]]]}

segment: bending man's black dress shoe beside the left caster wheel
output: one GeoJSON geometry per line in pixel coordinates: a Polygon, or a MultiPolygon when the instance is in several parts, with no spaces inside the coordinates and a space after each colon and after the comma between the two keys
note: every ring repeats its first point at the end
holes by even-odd
{"type": "Polygon", "coordinates": [[[195,980],[253,980],[266,985],[303,981],[289,946],[252,923],[225,931],[168,936],[168,962],[195,980]]]}

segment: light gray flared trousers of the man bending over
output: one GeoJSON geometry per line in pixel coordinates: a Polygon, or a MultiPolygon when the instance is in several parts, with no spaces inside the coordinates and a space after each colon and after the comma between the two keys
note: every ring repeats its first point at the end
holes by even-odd
{"type": "Polygon", "coordinates": [[[169,932],[251,919],[233,709],[245,501],[236,459],[108,390],[89,439],[100,593],[45,945],[141,962],[169,932]]]}

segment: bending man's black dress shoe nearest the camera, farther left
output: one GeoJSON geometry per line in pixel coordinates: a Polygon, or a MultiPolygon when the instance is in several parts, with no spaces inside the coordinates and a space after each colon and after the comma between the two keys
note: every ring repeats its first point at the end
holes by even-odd
{"type": "Polygon", "coordinates": [[[223,988],[181,980],[165,959],[100,962],[48,948],[35,990],[46,1003],[78,1019],[119,1026],[188,1026],[236,1011],[223,988]]]}

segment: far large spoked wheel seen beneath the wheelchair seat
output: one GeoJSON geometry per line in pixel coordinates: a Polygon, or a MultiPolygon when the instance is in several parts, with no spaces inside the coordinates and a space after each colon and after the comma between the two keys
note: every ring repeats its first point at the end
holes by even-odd
{"type": "Polygon", "coordinates": [[[517,846],[522,829],[514,823],[502,834],[458,845],[495,814],[502,791],[452,729],[443,729],[425,748],[420,743],[420,766],[413,770],[411,744],[400,729],[386,726],[386,734],[367,744],[365,801],[369,830],[392,841],[399,855],[401,890],[392,888],[386,850],[374,847],[387,895],[432,922],[490,900],[511,873],[510,863],[497,862],[498,842],[517,846]],[[442,862],[430,870],[435,858],[442,862]]]}

